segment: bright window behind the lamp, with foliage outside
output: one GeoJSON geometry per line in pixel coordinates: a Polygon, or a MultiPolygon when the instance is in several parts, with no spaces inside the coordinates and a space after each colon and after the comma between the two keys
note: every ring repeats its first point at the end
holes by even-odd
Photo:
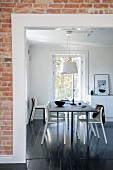
{"type": "Polygon", "coordinates": [[[72,88],[73,88],[73,75],[72,74],[61,74],[60,67],[62,62],[75,61],[77,63],[78,74],[74,74],[74,98],[75,100],[81,99],[81,79],[82,79],[82,55],[54,55],[54,99],[55,100],[71,100],[72,88]]]}

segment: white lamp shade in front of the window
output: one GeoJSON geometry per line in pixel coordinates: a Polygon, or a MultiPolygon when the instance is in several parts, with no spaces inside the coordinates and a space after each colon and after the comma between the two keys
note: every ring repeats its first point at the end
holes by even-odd
{"type": "Polygon", "coordinates": [[[69,62],[69,61],[63,62],[61,64],[60,73],[62,74],[78,73],[76,62],[69,62]]]}

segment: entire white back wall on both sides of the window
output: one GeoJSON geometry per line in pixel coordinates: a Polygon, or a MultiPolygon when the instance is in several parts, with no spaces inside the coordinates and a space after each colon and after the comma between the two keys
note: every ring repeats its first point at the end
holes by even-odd
{"type": "MultiPolygon", "coordinates": [[[[56,48],[59,51],[58,48],[56,48]]],[[[56,50],[49,47],[34,46],[30,48],[30,96],[37,96],[40,104],[52,100],[52,56],[50,51],[56,50]]],[[[60,49],[61,50],[61,49],[60,49]]],[[[64,50],[64,49],[62,49],[64,50]]],[[[89,51],[89,83],[86,95],[94,90],[94,74],[110,75],[110,93],[113,94],[113,48],[112,47],[84,47],[78,50],[89,51]]],[[[86,73],[87,74],[87,73],[86,73]]],[[[87,75],[86,75],[87,77],[87,75]]],[[[86,100],[88,100],[86,98],[86,100]]],[[[37,115],[37,114],[36,114],[37,115]]]]}

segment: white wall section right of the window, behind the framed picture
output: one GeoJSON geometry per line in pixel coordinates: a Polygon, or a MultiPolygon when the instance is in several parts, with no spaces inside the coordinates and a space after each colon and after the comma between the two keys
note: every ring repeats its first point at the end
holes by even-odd
{"type": "Polygon", "coordinates": [[[89,48],[89,91],[94,90],[94,74],[109,74],[113,94],[113,47],[89,48]]]}

